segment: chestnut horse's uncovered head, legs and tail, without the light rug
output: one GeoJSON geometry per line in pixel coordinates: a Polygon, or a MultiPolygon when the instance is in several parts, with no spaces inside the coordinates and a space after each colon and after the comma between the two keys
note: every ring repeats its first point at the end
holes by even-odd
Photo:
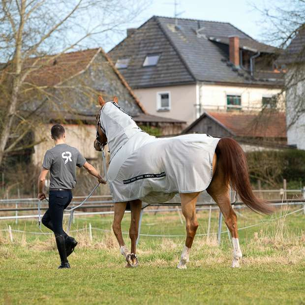
{"type": "MultiPolygon", "coordinates": [[[[114,102],[118,103],[118,99],[114,97],[114,102]]],[[[100,110],[106,102],[101,96],[98,99],[100,110]]],[[[127,114],[125,114],[127,115],[127,114]]],[[[96,115],[96,140],[94,141],[94,148],[96,151],[102,151],[103,146],[107,144],[106,134],[109,130],[102,130],[102,122],[99,122],[100,116],[96,115]]],[[[104,129],[104,128],[103,128],[104,129]]],[[[110,139],[109,139],[110,140],[110,139]]],[[[240,267],[240,260],[242,252],[240,249],[238,233],[237,233],[237,216],[234,212],[230,197],[230,185],[234,189],[244,204],[253,211],[260,213],[270,214],[273,208],[268,206],[267,203],[255,197],[252,192],[249,177],[248,167],[245,154],[240,145],[231,138],[222,138],[218,141],[215,152],[213,154],[213,172],[212,181],[206,188],[208,194],[213,198],[219,207],[221,213],[225,218],[225,223],[230,230],[233,243],[233,268],[240,267]]],[[[181,260],[177,266],[178,269],[186,269],[186,263],[189,261],[190,249],[194,241],[198,222],[196,218],[196,202],[198,196],[203,190],[199,192],[180,193],[182,213],[186,221],[186,240],[181,255],[181,260]]],[[[131,200],[131,222],[129,229],[129,236],[131,239],[131,252],[124,244],[121,230],[121,221],[126,209],[126,202],[114,203],[114,222],[113,231],[120,244],[121,254],[124,255],[127,261],[126,267],[130,267],[137,261],[136,254],[136,240],[138,237],[139,218],[141,213],[142,201],[140,199],[131,200]]]]}

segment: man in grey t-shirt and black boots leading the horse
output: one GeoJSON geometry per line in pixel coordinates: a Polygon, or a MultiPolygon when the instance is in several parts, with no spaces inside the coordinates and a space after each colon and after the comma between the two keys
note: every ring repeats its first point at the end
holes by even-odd
{"type": "Polygon", "coordinates": [[[62,230],[63,210],[72,200],[72,188],[76,185],[75,166],[84,166],[89,174],[96,177],[99,183],[106,184],[81,153],[74,147],[64,143],[65,131],[60,124],[51,128],[51,138],[55,147],[48,150],[44,156],[41,173],[38,179],[38,196],[40,200],[46,198],[43,192],[45,178],[50,170],[49,209],[43,215],[41,222],[55,234],[58,252],[61,257],[62,268],[70,268],[67,257],[73,252],[77,242],[62,230]]]}

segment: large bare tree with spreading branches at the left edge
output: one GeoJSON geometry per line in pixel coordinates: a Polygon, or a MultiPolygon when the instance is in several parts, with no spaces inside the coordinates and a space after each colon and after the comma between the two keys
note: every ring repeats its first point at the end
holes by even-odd
{"type": "Polygon", "coordinates": [[[104,33],[134,21],[145,7],[144,0],[0,0],[0,164],[5,154],[43,139],[27,141],[30,131],[41,133],[42,107],[72,110],[65,89],[89,99],[97,93],[88,84],[67,84],[74,71],[44,86],[48,67],[68,51],[100,45],[104,33]]]}

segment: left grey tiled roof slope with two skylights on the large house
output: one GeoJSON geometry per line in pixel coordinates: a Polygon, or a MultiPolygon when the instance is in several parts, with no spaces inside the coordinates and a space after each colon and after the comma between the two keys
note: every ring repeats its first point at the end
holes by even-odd
{"type": "Polygon", "coordinates": [[[128,68],[120,69],[120,72],[131,88],[195,82],[155,18],[136,30],[132,39],[124,39],[108,55],[114,62],[119,58],[130,58],[128,68]],[[147,54],[153,53],[161,53],[157,66],[142,67],[147,54]]]}

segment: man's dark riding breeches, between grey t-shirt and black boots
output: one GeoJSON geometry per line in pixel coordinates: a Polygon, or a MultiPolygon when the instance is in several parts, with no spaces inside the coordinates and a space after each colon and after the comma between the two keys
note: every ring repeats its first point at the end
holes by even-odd
{"type": "MultiPolygon", "coordinates": [[[[49,209],[44,213],[41,222],[50,228],[52,222],[53,232],[62,235],[62,217],[63,210],[67,208],[72,200],[71,191],[50,191],[49,193],[49,209]]],[[[50,228],[51,229],[51,228],[50,228]]],[[[52,229],[51,229],[52,230],[52,229]]]]}

